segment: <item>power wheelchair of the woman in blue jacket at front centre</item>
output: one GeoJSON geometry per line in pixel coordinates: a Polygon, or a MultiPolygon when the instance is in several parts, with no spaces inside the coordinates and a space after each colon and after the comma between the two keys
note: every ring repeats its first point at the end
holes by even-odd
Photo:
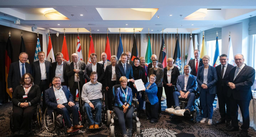
{"type": "MultiPolygon", "coordinates": [[[[117,88],[119,88],[120,86],[121,86],[120,84],[113,86],[113,96],[115,95],[115,90],[117,88]]],[[[112,100],[112,105],[114,106],[114,97],[113,97],[113,100],[112,100]]],[[[132,105],[133,105],[133,108],[134,108],[134,110],[133,110],[133,120],[135,120],[135,122],[136,122],[136,135],[140,136],[140,122],[139,122],[139,118],[137,117],[138,116],[137,109],[139,108],[138,99],[133,98],[132,105]]],[[[110,127],[110,137],[115,137],[115,135],[114,135],[114,127],[116,125],[115,123],[118,123],[118,117],[117,117],[116,113],[114,112],[114,109],[113,109],[113,111],[107,110],[107,123],[106,123],[106,125],[110,127]]]]}

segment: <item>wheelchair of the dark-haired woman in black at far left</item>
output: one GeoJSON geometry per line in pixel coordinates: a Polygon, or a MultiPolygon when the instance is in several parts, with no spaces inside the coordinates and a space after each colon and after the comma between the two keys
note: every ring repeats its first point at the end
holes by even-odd
{"type": "MultiPolygon", "coordinates": [[[[36,113],[33,115],[33,118],[32,118],[31,124],[30,124],[29,134],[34,134],[34,133],[37,133],[39,130],[42,130],[42,126],[43,126],[42,105],[38,103],[36,113]],[[34,129],[34,131],[33,131],[33,129],[34,129]]],[[[13,128],[14,128],[14,125],[13,125],[12,113],[11,113],[10,129],[11,129],[12,133],[14,133],[13,128]]]]}

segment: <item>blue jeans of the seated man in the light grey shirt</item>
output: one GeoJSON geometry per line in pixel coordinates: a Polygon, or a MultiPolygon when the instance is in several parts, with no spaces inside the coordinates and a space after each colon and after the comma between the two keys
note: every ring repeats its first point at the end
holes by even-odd
{"type": "Polygon", "coordinates": [[[85,110],[87,114],[87,120],[89,122],[89,125],[97,124],[101,122],[102,118],[102,101],[101,98],[95,99],[95,100],[90,100],[91,103],[93,103],[94,110],[95,110],[95,117],[93,119],[93,113],[92,113],[92,108],[88,103],[84,104],[83,109],[85,110]]]}

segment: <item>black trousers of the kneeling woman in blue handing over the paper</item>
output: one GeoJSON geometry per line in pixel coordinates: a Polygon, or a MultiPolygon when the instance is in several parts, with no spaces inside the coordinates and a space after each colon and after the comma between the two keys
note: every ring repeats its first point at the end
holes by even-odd
{"type": "Polygon", "coordinates": [[[149,118],[150,120],[157,122],[158,119],[158,107],[159,107],[159,102],[157,102],[154,105],[151,105],[150,103],[146,102],[145,104],[146,107],[146,116],[147,118],[149,118]]]}

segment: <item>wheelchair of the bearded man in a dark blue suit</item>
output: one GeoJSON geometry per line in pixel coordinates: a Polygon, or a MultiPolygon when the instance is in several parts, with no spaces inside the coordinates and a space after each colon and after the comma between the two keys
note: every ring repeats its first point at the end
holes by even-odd
{"type": "MultiPolygon", "coordinates": [[[[49,116],[47,113],[48,107],[46,108],[45,112],[44,112],[44,124],[45,124],[45,128],[47,131],[49,131],[50,133],[55,133],[56,135],[59,136],[60,134],[60,129],[64,128],[64,132],[66,134],[66,125],[65,125],[65,120],[63,118],[62,114],[58,114],[56,112],[56,110],[54,110],[52,112],[52,116],[49,116]]],[[[71,123],[73,123],[73,117],[72,114],[70,114],[70,119],[71,119],[71,123]]],[[[80,114],[80,111],[78,111],[78,124],[82,125],[82,117],[80,114]]],[[[74,129],[74,131],[72,131],[71,133],[78,131],[79,129],[74,129]]]]}

